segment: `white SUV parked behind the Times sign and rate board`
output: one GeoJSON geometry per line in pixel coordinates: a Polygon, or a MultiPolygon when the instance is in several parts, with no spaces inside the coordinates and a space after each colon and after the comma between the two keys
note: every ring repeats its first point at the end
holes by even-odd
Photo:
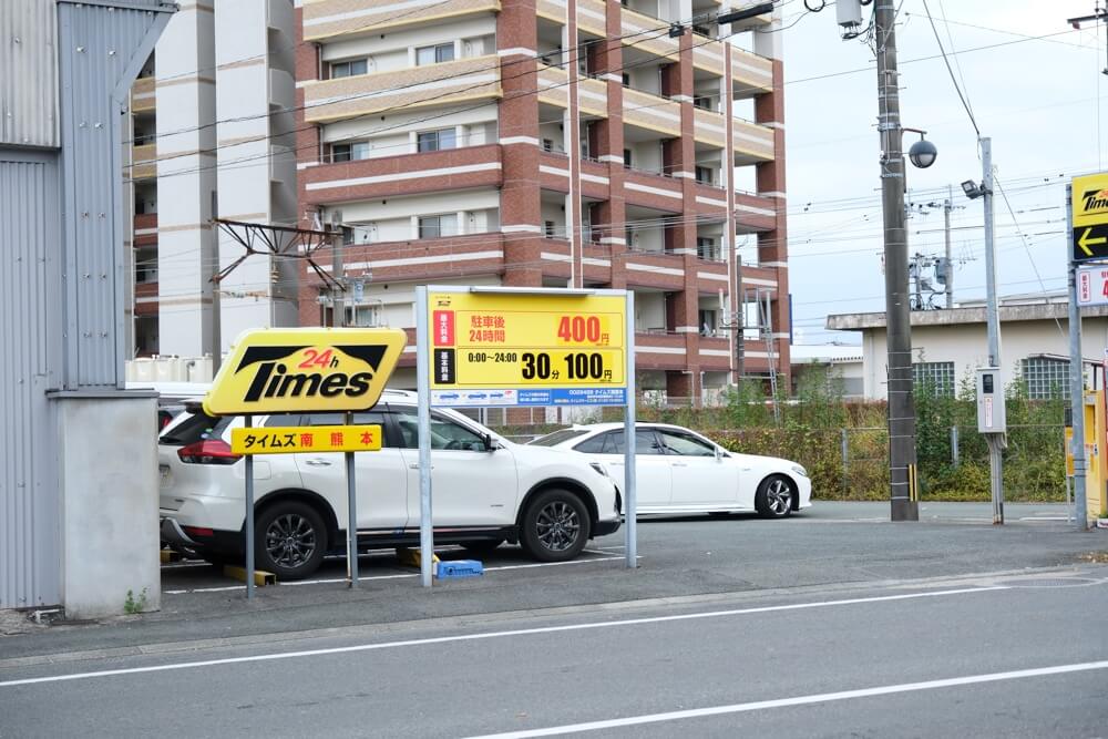
{"type": "MultiPolygon", "coordinates": [[[[341,424],[338,413],[255,417],[259,427],[341,424]]],[[[379,452],[356,455],[359,548],[419,542],[417,398],[386,391],[355,423],[379,423],[379,452]]],[[[244,470],[230,452],[243,419],[195,409],[158,438],[162,538],[206,560],[243,556],[244,470]]],[[[594,536],[619,528],[619,494],[602,464],[560,450],[524,447],[449,410],[431,413],[437,544],[486,552],[519,542],[535,560],[571,560],[594,536]]],[[[256,456],[255,561],[284,579],[314,573],[346,541],[343,456],[299,452],[256,456]]]]}

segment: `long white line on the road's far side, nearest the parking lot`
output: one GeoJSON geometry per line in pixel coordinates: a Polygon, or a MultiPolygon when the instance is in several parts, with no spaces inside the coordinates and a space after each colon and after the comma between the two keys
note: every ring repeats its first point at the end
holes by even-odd
{"type": "MultiPolygon", "coordinates": [[[[615,557],[622,558],[622,557],[615,557]]],[[[593,560],[592,562],[596,562],[593,560]]],[[[568,563],[565,563],[568,564],[568,563]]],[[[530,567],[534,565],[513,565],[530,567]]],[[[356,651],[372,651],[377,649],[394,649],[398,647],[421,647],[431,644],[450,644],[454,642],[476,642],[481,639],[499,639],[515,636],[533,636],[535,634],[556,634],[561,632],[585,632],[601,628],[616,628],[620,626],[639,626],[642,624],[663,624],[669,622],[698,620],[701,618],[724,618],[727,616],[746,616],[750,614],[765,614],[783,610],[806,610],[808,608],[829,608],[832,606],[849,606],[862,603],[886,603],[893,601],[914,601],[919,598],[935,598],[947,595],[971,595],[975,593],[989,593],[993,591],[1009,591],[1007,585],[992,585],[988,587],[964,587],[951,591],[930,591],[926,593],[902,593],[900,595],[875,595],[865,598],[843,598],[840,601],[817,601],[812,603],[794,603],[780,606],[758,606],[753,608],[731,608],[728,610],[705,610],[691,614],[678,614],[675,616],[646,616],[643,618],[625,618],[622,620],[603,620],[585,624],[566,624],[564,626],[541,626],[536,628],[521,628],[507,632],[483,632],[481,634],[456,634],[453,636],[435,636],[423,639],[403,639],[400,642],[380,642],[375,644],[356,644],[349,647],[328,647],[325,649],[302,649],[298,651],[279,651],[271,655],[253,655],[249,657],[225,657],[223,659],[204,659],[191,663],[176,663],[173,665],[151,665],[148,667],[126,667],[121,669],[105,669],[93,673],[74,673],[71,675],[52,675],[50,677],[31,677],[20,680],[7,680],[0,682],[0,688],[11,688],[20,685],[38,685],[40,682],[64,682],[68,680],[81,680],[96,677],[112,677],[115,675],[138,675],[142,673],[164,673],[176,669],[192,669],[197,667],[213,667],[216,665],[238,665],[243,663],[270,661],[274,659],[291,659],[295,657],[320,657],[327,655],[341,655],[356,651]]]]}

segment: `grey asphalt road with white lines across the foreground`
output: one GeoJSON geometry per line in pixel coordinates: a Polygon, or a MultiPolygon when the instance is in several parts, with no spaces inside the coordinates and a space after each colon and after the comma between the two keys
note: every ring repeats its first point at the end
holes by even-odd
{"type": "Polygon", "coordinates": [[[0,736],[1095,737],[1108,567],[0,668],[0,736]]]}

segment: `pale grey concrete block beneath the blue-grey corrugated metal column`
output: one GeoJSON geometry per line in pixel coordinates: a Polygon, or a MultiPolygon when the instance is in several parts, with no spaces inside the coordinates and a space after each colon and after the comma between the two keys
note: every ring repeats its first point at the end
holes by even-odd
{"type": "Polygon", "coordinates": [[[123,613],[129,589],[137,603],[145,588],[145,609],[161,608],[156,400],[60,398],[54,406],[66,617],[123,613]]]}

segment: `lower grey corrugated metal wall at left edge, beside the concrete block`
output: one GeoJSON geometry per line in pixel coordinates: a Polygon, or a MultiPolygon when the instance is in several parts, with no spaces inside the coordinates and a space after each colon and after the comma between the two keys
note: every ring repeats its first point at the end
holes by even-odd
{"type": "Polygon", "coordinates": [[[0,608],[60,602],[58,164],[0,148],[0,608]]]}

